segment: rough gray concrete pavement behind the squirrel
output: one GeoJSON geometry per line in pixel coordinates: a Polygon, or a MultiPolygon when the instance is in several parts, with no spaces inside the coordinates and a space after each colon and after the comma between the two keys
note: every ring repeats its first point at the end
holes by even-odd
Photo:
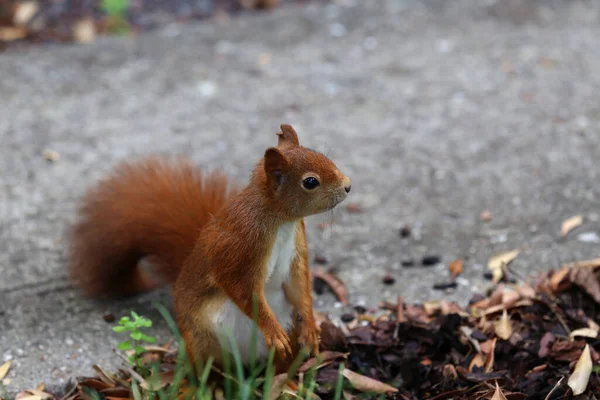
{"type": "MultiPolygon", "coordinates": [[[[325,217],[309,219],[312,254],[339,267],[353,304],[397,294],[464,304],[488,287],[488,257],[519,246],[524,274],[600,255],[578,239],[600,233],[598,2],[338,3],[0,55],[9,388],[117,364],[107,311],[134,309],[170,338],[151,306],[168,304],[167,290],[97,303],[64,279],[77,199],[134,155],[183,154],[243,182],[279,124],[294,124],[305,145],[330,150],[353,179],[348,202],[362,206],[340,208],[326,230],[325,217]],[[579,213],[584,225],[561,239],[561,221],[579,213]],[[399,238],[404,224],[413,239],[399,238]],[[400,266],[423,254],[443,263],[400,266]],[[467,260],[458,289],[433,291],[454,258],[467,260]]],[[[330,295],[316,306],[343,311],[330,295]]]]}

